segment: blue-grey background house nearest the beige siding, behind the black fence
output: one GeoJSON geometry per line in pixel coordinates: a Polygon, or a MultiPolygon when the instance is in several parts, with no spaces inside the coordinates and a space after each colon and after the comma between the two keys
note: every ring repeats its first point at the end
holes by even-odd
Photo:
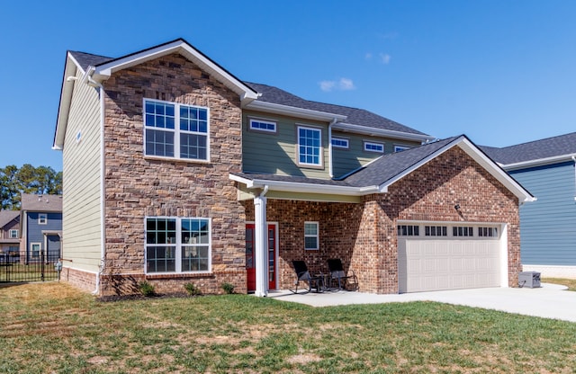
{"type": "Polygon", "coordinates": [[[21,263],[55,263],[61,256],[62,196],[23,193],[21,263]]]}

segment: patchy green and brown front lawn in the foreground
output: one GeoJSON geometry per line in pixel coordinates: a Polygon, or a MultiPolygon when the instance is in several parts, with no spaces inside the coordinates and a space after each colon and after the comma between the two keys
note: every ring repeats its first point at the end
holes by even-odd
{"type": "Polygon", "coordinates": [[[431,302],[307,307],[247,295],[101,302],[0,288],[2,373],[573,372],[576,324],[431,302]]]}

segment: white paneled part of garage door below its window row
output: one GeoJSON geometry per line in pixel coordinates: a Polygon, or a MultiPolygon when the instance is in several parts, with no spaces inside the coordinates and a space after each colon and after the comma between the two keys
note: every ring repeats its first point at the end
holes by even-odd
{"type": "Polygon", "coordinates": [[[399,272],[401,292],[499,287],[500,241],[402,238],[399,272]]]}

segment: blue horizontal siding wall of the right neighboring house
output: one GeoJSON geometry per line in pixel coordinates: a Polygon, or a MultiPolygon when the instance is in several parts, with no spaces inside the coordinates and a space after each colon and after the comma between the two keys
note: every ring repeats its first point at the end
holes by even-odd
{"type": "Polygon", "coordinates": [[[527,265],[576,265],[574,163],[509,172],[535,202],[520,207],[520,256],[527,265]]]}

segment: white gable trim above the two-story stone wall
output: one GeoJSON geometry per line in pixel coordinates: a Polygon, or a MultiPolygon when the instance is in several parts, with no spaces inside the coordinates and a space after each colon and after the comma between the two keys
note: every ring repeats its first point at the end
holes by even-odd
{"type": "Polygon", "coordinates": [[[250,102],[257,99],[257,93],[254,92],[254,90],[239,81],[238,78],[231,76],[226,70],[211,61],[210,58],[207,58],[198,50],[193,49],[193,47],[184,42],[184,40],[175,40],[157,48],[146,49],[139,53],[126,56],[125,58],[115,59],[109,63],[95,67],[93,78],[102,83],[102,81],[108,79],[112,76],[112,73],[116,71],[172,53],[180,53],[185,58],[193,61],[193,63],[198,65],[202,70],[209,72],[212,76],[216,76],[221,83],[237,93],[242,101],[250,102]]]}

